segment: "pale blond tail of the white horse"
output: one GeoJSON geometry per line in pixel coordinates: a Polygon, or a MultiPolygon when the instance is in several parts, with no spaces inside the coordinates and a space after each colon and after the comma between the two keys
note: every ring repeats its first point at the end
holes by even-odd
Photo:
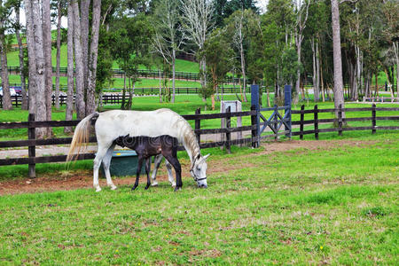
{"type": "Polygon", "coordinates": [[[84,150],[89,143],[91,121],[98,119],[98,112],[91,113],[80,121],[74,129],[74,137],[69,147],[66,161],[76,160],[78,155],[84,150]],[[74,153],[77,150],[77,153],[74,153]]]}

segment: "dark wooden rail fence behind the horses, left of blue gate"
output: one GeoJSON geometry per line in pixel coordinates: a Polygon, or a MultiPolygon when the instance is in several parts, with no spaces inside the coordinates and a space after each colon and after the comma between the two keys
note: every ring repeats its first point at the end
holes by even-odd
{"type": "MultiPolygon", "coordinates": [[[[254,115],[254,112],[255,111],[237,112],[237,113],[229,112],[229,113],[200,114],[200,109],[198,109],[196,111],[196,114],[187,114],[183,115],[183,117],[188,121],[190,120],[195,121],[194,132],[199,139],[201,135],[205,134],[215,134],[215,133],[226,134],[227,139],[225,141],[200,143],[201,148],[225,146],[228,149],[228,151],[230,151],[231,145],[252,143],[254,142],[254,139],[257,139],[257,136],[252,136],[250,138],[231,140],[230,134],[232,132],[253,130],[256,128],[256,125],[231,128],[230,126],[231,124],[228,123],[228,127],[224,129],[200,129],[200,121],[207,119],[218,119],[218,118],[226,118],[228,121],[230,121],[231,117],[250,116],[254,115]]],[[[72,137],[36,139],[35,129],[73,127],[76,126],[78,123],[79,121],[35,121],[35,116],[33,114],[29,114],[28,121],[0,123],[0,129],[27,129],[27,136],[28,136],[27,140],[12,140],[12,141],[0,142],[0,148],[23,147],[23,146],[28,147],[28,154],[27,154],[28,157],[0,159],[0,166],[27,164],[29,165],[29,170],[28,170],[29,177],[34,178],[36,163],[66,161],[66,155],[36,157],[35,147],[38,145],[67,145],[71,143],[72,137]]],[[[95,143],[96,141],[97,141],[96,137],[90,137],[90,143],[95,143]]],[[[179,150],[183,149],[184,149],[183,147],[179,147],[179,150]]],[[[79,155],[77,160],[89,160],[93,158],[94,158],[94,153],[83,153],[79,155]]]]}

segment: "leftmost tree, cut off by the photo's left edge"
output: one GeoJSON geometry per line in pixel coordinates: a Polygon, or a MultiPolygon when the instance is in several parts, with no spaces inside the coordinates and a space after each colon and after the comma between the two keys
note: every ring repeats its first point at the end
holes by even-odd
{"type": "Polygon", "coordinates": [[[5,31],[8,27],[8,18],[11,15],[11,9],[0,0],[0,52],[1,52],[1,77],[3,87],[3,109],[12,110],[12,99],[10,94],[10,83],[8,79],[7,68],[7,40],[5,31]]]}

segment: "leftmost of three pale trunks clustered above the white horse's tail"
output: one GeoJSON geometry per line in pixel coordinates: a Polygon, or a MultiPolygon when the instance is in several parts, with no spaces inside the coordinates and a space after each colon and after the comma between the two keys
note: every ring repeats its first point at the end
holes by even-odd
{"type": "MultiPolygon", "coordinates": [[[[72,6],[73,0],[68,1],[68,31],[67,31],[67,78],[68,90],[66,93],[66,114],[65,120],[72,120],[74,113],[74,11],[72,6]]],[[[64,132],[73,132],[72,127],[65,127],[64,132]]]]}

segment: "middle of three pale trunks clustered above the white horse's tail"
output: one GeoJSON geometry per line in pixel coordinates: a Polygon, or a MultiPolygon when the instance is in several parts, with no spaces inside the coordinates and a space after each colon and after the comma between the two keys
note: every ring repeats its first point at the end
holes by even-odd
{"type": "Polygon", "coordinates": [[[83,119],[86,113],[84,105],[84,66],[81,43],[81,21],[79,18],[79,4],[77,0],[73,1],[74,7],[74,64],[76,66],[76,114],[77,119],[83,119]]]}

